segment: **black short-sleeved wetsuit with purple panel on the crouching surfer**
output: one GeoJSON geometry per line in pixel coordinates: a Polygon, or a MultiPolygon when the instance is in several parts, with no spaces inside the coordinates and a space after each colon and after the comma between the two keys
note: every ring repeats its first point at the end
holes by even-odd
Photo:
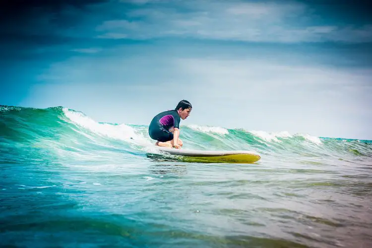
{"type": "Polygon", "coordinates": [[[170,127],[180,128],[181,118],[177,110],[168,110],[156,115],[148,128],[148,133],[152,139],[167,142],[173,139],[170,127]]]}

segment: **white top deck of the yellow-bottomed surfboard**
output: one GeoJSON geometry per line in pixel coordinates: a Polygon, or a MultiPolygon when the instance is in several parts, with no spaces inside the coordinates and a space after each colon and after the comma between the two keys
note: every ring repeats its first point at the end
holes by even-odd
{"type": "Polygon", "coordinates": [[[213,157],[213,156],[226,156],[234,154],[251,154],[258,155],[254,151],[203,151],[203,150],[188,150],[188,149],[176,149],[169,147],[155,146],[156,150],[160,150],[173,155],[189,156],[189,157],[213,157]]]}

